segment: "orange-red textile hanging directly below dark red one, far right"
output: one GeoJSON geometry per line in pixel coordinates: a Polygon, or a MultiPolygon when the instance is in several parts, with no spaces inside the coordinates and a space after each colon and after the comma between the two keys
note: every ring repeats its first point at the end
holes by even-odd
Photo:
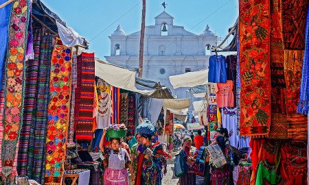
{"type": "Polygon", "coordinates": [[[307,139],[307,115],[297,114],[299,89],[301,86],[301,66],[304,51],[284,50],[284,77],[286,80],[286,116],[288,137],[295,140],[307,139]]]}

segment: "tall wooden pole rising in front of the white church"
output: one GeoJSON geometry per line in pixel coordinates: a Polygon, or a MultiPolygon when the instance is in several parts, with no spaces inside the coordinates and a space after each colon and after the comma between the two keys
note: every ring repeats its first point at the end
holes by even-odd
{"type": "Polygon", "coordinates": [[[143,77],[144,37],[145,37],[146,0],[141,11],[141,38],[139,40],[139,77],[143,77]]]}

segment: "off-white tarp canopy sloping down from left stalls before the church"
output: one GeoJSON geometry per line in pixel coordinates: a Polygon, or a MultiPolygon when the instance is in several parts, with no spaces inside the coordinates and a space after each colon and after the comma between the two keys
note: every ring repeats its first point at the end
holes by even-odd
{"type": "Polygon", "coordinates": [[[155,90],[139,90],[135,87],[135,71],[130,71],[112,64],[103,64],[95,60],[95,75],[108,84],[141,95],[150,96],[155,90]]]}

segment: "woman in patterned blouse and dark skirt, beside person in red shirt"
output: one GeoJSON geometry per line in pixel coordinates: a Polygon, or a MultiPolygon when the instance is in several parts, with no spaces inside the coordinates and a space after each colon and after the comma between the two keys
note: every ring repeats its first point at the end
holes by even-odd
{"type": "Polygon", "coordinates": [[[192,139],[189,136],[183,138],[183,148],[180,151],[181,160],[185,160],[187,164],[187,173],[179,177],[180,185],[195,185],[196,173],[195,173],[195,159],[196,159],[196,147],[192,147],[192,139]]]}

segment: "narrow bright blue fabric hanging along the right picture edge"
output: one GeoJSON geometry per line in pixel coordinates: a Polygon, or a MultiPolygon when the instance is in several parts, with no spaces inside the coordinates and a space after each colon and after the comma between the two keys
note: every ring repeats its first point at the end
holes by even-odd
{"type": "Polygon", "coordinates": [[[297,112],[300,114],[308,114],[309,110],[309,6],[307,10],[307,23],[306,23],[306,35],[305,35],[305,52],[303,60],[303,69],[301,75],[301,88],[299,92],[299,103],[297,106],[297,112]]]}

